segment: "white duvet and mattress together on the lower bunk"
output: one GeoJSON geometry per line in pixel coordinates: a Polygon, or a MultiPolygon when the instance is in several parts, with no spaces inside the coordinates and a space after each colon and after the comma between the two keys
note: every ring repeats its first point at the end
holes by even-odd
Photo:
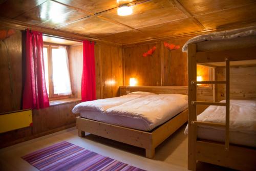
{"type": "MultiPolygon", "coordinates": [[[[225,102],[222,100],[221,102],[225,102]]],[[[198,121],[225,123],[225,106],[209,106],[198,121]]],[[[230,143],[256,146],[256,100],[230,100],[230,143]]],[[[188,127],[185,129],[188,134],[188,127]]],[[[224,142],[225,128],[200,125],[198,137],[224,142]],[[215,130],[215,131],[214,131],[215,130]]]]}

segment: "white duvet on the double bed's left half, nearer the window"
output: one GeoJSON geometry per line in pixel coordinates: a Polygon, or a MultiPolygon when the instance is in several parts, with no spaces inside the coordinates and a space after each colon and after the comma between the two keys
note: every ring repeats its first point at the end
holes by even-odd
{"type": "Polygon", "coordinates": [[[73,108],[73,113],[80,113],[81,111],[100,111],[104,112],[105,110],[112,108],[114,106],[123,104],[127,101],[134,100],[136,98],[140,98],[147,95],[152,95],[154,93],[150,92],[133,92],[124,96],[120,97],[113,97],[113,98],[105,98],[93,101],[86,101],[81,102],[73,108]]]}

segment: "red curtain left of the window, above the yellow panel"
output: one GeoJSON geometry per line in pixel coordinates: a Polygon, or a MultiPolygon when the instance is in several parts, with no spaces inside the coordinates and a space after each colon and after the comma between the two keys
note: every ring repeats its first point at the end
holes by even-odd
{"type": "Polygon", "coordinates": [[[26,32],[26,71],[23,91],[23,109],[49,107],[46,90],[42,33],[26,32]]]}

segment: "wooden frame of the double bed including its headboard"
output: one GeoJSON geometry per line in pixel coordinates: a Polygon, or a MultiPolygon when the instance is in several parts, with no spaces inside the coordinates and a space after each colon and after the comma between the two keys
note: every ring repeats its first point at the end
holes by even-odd
{"type": "MultiPolygon", "coordinates": [[[[174,93],[187,95],[187,87],[185,86],[146,86],[146,87],[119,87],[120,95],[127,94],[126,91],[146,91],[156,94],[160,93],[174,93]]],[[[117,126],[104,122],[99,122],[82,117],[76,117],[76,127],[78,136],[83,137],[85,133],[91,133],[104,138],[109,138],[115,141],[145,148],[146,157],[153,158],[155,155],[155,148],[162,143],[166,138],[172,135],[184,123],[187,122],[188,110],[185,110],[172,119],[166,121],[160,126],[156,127],[151,132],[130,129],[123,126],[117,126]]]]}

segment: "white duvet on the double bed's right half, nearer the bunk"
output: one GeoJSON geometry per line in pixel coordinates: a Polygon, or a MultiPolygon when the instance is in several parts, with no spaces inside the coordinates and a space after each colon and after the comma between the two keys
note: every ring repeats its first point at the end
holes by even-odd
{"type": "Polygon", "coordinates": [[[151,129],[187,109],[187,96],[181,94],[148,95],[114,106],[107,115],[141,118],[151,129]]]}

